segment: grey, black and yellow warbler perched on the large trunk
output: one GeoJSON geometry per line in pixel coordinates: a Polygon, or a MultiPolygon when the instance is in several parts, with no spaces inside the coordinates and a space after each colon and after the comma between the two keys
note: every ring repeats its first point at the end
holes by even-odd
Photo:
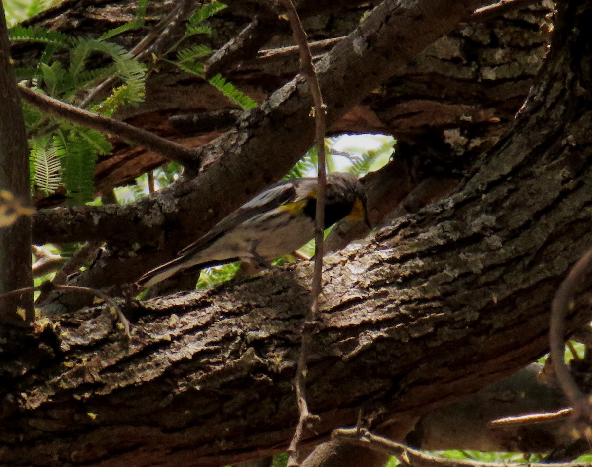
{"type": "MultiPolygon", "coordinates": [[[[314,237],[317,179],[295,178],[277,183],[221,220],[179,257],[152,269],[138,280],[140,287],[164,281],[184,269],[205,268],[237,260],[269,266],[269,261],[294,252],[314,237]]],[[[325,228],[339,220],[364,221],[366,195],[350,173],[327,176],[325,228]]]]}

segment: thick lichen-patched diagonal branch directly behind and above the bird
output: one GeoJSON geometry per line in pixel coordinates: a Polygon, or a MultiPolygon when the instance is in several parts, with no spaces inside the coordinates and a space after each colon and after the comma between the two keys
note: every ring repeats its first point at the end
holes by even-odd
{"type": "MultiPolygon", "coordinates": [[[[386,2],[377,7],[317,63],[327,124],[343,117],[478,3],[386,2]],[[443,8],[446,15],[441,14],[443,8]]],[[[204,167],[197,178],[124,208],[76,207],[40,213],[34,222],[34,240],[107,237],[108,253],[72,283],[102,288],[133,282],[173,257],[188,239],[205,233],[262,186],[281,178],[314,140],[310,108],[307,86],[297,77],[259,108],[245,112],[233,130],[202,147],[204,167]]],[[[76,298],[73,305],[80,303],[76,298]]],[[[72,306],[71,299],[60,299],[59,309],[62,305],[72,306]]]]}

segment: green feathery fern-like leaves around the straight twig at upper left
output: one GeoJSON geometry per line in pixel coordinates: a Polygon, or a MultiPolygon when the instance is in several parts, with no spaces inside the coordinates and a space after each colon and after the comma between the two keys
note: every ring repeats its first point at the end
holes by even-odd
{"type": "MultiPolygon", "coordinates": [[[[139,16],[133,27],[143,25],[146,6],[147,0],[140,0],[139,16]]],[[[101,79],[118,78],[122,84],[91,107],[95,112],[111,116],[117,109],[137,105],[144,99],[146,69],[124,47],[105,40],[123,30],[115,28],[102,38],[89,39],[38,27],[14,27],[9,34],[12,41],[45,45],[37,67],[17,68],[16,74],[19,79],[30,80],[37,91],[73,104],[82,89],[92,89],[101,79]],[[66,53],[66,59],[57,59],[57,52],[62,56],[66,53]],[[106,63],[91,69],[89,61],[98,55],[106,63]]],[[[96,159],[111,152],[105,136],[43,116],[28,106],[25,106],[25,122],[29,133],[35,135],[30,156],[34,188],[51,193],[65,185],[71,203],[90,201],[94,197],[96,159]]]]}

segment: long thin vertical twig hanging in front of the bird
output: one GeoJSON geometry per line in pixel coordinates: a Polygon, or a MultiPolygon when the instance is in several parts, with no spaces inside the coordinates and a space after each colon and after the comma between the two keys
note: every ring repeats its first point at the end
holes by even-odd
{"type": "MultiPolygon", "coordinates": [[[[310,53],[308,46],[308,38],[304,31],[302,22],[298,17],[298,12],[291,0],[280,0],[281,4],[287,10],[288,20],[294,33],[294,40],[298,44],[300,50],[300,68],[304,77],[307,80],[308,88],[313,96],[314,107],[311,114],[315,122],[315,144],[317,147],[318,156],[318,170],[317,170],[317,205],[314,216],[314,239],[315,239],[315,253],[314,253],[314,274],[313,286],[311,291],[311,304],[308,310],[306,321],[303,326],[302,343],[300,346],[300,357],[298,358],[298,368],[296,369],[296,376],[294,385],[296,387],[296,397],[298,401],[298,424],[294,431],[294,436],[288,447],[288,466],[294,467],[300,465],[298,462],[298,445],[303,437],[304,427],[308,426],[313,421],[313,416],[308,410],[308,402],[306,399],[306,373],[308,365],[308,355],[310,354],[310,347],[313,337],[314,323],[316,321],[318,311],[318,298],[322,289],[322,275],[323,275],[323,227],[325,214],[325,199],[327,190],[327,170],[325,162],[325,108],[323,102],[323,95],[321,95],[321,88],[318,84],[316,70],[313,65],[313,56],[310,53]]],[[[318,418],[318,417],[316,417],[318,418]]]]}

